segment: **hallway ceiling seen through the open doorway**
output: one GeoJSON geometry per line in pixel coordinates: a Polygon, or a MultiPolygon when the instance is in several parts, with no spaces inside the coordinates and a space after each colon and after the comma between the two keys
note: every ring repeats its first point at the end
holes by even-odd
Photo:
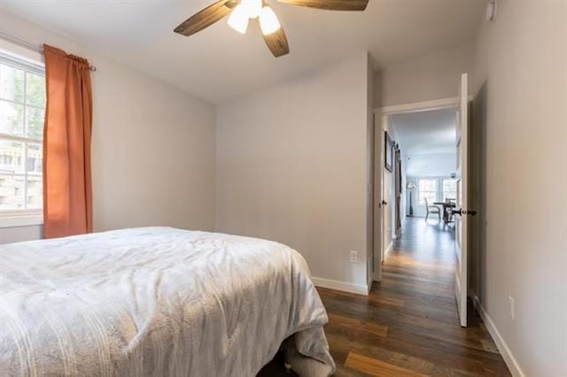
{"type": "Polygon", "coordinates": [[[392,115],[396,142],[414,177],[449,176],[456,167],[456,112],[442,109],[392,115]]]}

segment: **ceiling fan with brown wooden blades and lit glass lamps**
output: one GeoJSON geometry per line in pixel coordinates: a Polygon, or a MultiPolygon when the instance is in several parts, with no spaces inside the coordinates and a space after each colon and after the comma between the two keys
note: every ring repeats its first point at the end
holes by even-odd
{"type": "MultiPolygon", "coordinates": [[[[369,0],[278,0],[280,3],[307,6],[330,11],[364,11],[369,0]]],[[[245,34],[250,19],[259,19],[260,29],[268,49],[276,58],[290,53],[287,37],[269,7],[267,0],[218,0],[204,10],[192,15],[175,27],[175,33],[189,36],[229,15],[229,27],[245,34]]]]}

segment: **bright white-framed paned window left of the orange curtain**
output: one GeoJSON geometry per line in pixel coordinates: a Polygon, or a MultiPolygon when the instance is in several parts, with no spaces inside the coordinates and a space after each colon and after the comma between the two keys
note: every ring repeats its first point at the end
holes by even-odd
{"type": "Polygon", "coordinates": [[[43,66],[0,51],[0,214],[43,206],[43,66]]]}

